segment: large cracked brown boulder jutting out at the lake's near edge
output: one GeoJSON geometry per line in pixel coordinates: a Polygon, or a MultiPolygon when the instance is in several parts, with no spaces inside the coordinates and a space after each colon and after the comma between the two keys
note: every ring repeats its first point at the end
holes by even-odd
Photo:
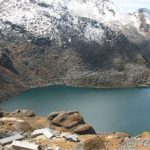
{"type": "Polygon", "coordinates": [[[51,113],[48,120],[53,128],[60,128],[77,134],[96,134],[95,130],[85,123],[83,117],[77,111],[51,113]]]}

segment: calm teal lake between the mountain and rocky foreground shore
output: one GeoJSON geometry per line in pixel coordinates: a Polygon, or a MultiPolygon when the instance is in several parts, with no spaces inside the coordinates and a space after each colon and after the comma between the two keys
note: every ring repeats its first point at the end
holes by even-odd
{"type": "Polygon", "coordinates": [[[5,111],[31,109],[47,116],[54,111],[78,110],[97,132],[150,131],[150,88],[92,89],[49,86],[31,89],[0,104],[5,111]]]}

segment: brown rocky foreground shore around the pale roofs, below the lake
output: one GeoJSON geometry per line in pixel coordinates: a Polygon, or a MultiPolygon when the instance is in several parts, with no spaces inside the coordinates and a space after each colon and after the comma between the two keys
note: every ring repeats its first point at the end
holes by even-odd
{"type": "MultiPolygon", "coordinates": [[[[30,110],[0,111],[0,140],[15,133],[24,136],[23,141],[40,145],[43,150],[149,150],[150,133],[131,137],[127,133],[96,133],[78,111],[53,112],[40,117],[30,110]],[[34,130],[49,128],[56,135],[47,139],[44,135],[31,137],[34,130]],[[64,138],[65,134],[77,140],[64,138]]],[[[11,144],[0,145],[2,150],[11,150],[11,144]]]]}

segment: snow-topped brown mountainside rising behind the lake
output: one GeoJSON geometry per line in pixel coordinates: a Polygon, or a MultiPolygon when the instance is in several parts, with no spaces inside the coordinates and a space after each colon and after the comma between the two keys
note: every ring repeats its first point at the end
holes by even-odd
{"type": "Polygon", "coordinates": [[[54,84],[149,86],[149,12],[110,0],[0,0],[0,100],[54,84]]]}

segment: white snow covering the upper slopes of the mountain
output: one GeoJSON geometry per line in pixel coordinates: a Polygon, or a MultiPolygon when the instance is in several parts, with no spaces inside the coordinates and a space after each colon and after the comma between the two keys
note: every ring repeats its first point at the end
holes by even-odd
{"type": "MultiPolygon", "coordinates": [[[[150,12],[141,10],[145,18],[144,27],[150,25],[150,12]]],[[[141,31],[139,12],[127,14],[110,0],[0,0],[0,20],[24,27],[35,36],[59,39],[59,25],[68,26],[82,34],[80,18],[89,19],[85,26],[85,39],[103,43],[104,29],[94,27],[90,20],[102,23],[111,30],[126,32],[135,28],[141,31]],[[67,21],[66,21],[66,20],[67,21]]],[[[69,30],[69,29],[68,29],[69,30]]]]}

